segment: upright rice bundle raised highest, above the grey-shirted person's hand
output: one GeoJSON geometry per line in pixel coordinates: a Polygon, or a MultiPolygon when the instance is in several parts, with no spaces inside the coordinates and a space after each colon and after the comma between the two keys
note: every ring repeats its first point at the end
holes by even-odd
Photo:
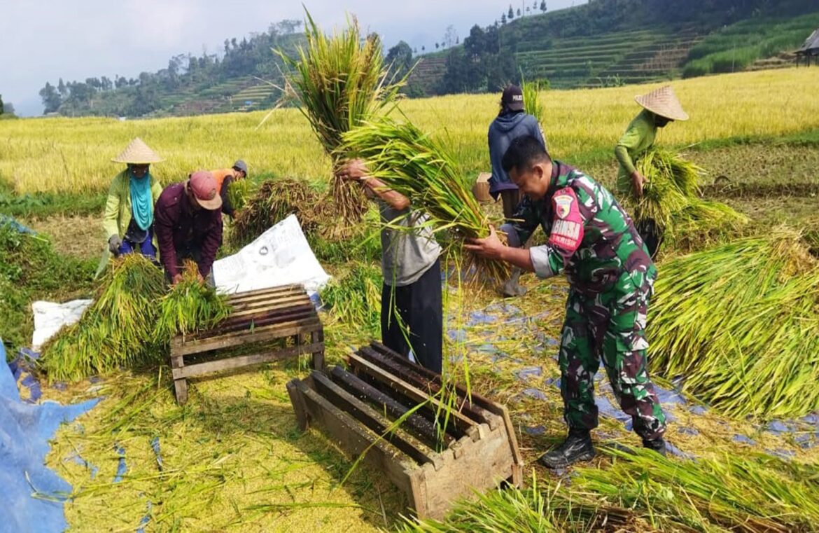
{"type": "MultiPolygon", "coordinates": [[[[381,39],[377,34],[361,39],[355,18],[341,34],[328,37],[307,13],[305,38],[307,43],[298,49],[296,59],[278,53],[292,69],[288,82],[301,102],[301,112],[337,166],[345,159],[338,151],[342,134],[391,111],[405,80],[390,77],[381,39]]],[[[332,190],[343,219],[359,221],[366,210],[360,191],[338,179],[335,172],[332,190]]]]}

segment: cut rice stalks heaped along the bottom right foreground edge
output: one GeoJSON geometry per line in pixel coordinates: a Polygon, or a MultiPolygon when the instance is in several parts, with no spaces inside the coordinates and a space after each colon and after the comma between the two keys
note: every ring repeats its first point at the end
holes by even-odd
{"type": "Polygon", "coordinates": [[[816,531],[812,467],[762,453],[677,462],[609,449],[612,464],[581,467],[571,485],[536,480],[457,505],[443,522],[405,518],[402,531],[816,531]]]}

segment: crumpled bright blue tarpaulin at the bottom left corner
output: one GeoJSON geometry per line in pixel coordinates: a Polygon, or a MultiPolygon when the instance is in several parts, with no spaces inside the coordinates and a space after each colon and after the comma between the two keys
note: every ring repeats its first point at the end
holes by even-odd
{"type": "Polygon", "coordinates": [[[48,440],[63,422],[79,417],[97,401],[73,405],[20,401],[15,377],[6,364],[6,350],[0,343],[0,532],[49,533],[66,529],[62,501],[55,496],[66,494],[71,487],[45,466],[48,440]]]}

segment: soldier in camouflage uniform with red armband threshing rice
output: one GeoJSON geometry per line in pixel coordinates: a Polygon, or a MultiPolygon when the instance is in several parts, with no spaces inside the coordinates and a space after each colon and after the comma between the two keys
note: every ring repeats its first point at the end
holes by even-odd
{"type": "Polygon", "coordinates": [[[602,185],[552,162],[532,137],[515,139],[503,165],[526,195],[516,221],[502,227],[509,246],[493,230],[467,248],[541,278],[565,273],[570,284],[559,353],[569,435],[541,462],[558,468],[594,457],[590,430],[597,426],[594,376],[601,359],[643,444],[664,454],[665,416],[645,360],[645,318],[657,269],[631,218],[602,185]],[[537,225],[549,235],[549,243],[518,248],[537,225]]]}

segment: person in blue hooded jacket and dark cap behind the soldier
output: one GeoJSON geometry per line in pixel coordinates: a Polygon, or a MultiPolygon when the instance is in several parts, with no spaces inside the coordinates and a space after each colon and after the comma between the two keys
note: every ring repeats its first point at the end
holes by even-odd
{"type": "MultiPolygon", "coordinates": [[[[504,170],[501,160],[514,139],[532,136],[543,145],[547,152],[546,141],[541,125],[532,115],[527,115],[523,107],[523,90],[517,85],[509,85],[500,97],[500,112],[489,125],[489,158],[492,163],[492,177],[489,179],[489,193],[495,200],[500,196],[504,203],[504,216],[511,219],[520,203],[518,186],[512,183],[504,170]]],[[[507,220],[509,221],[509,220],[507,220]]],[[[525,244],[525,243],[524,243],[525,244]]],[[[526,289],[518,283],[520,269],[512,269],[512,276],[500,287],[504,296],[523,296],[526,289]]]]}

